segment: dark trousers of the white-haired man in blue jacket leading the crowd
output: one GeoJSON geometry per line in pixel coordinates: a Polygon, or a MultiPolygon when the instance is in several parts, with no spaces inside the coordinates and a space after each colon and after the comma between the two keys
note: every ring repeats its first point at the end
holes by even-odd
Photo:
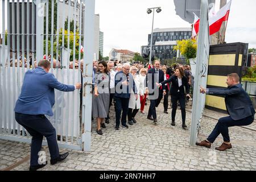
{"type": "Polygon", "coordinates": [[[120,118],[121,118],[121,112],[122,112],[122,118],[121,123],[122,125],[126,125],[126,116],[128,113],[128,107],[129,107],[129,98],[121,98],[121,97],[115,97],[115,106],[117,109],[115,109],[115,126],[120,125],[120,118]]]}

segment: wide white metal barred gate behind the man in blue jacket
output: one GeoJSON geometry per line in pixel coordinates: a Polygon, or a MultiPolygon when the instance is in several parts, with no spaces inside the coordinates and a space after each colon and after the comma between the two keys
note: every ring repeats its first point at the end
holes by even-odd
{"type": "MultiPolygon", "coordinates": [[[[84,83],[81,94],[77,90],[55,91],[54,115],[48,119],[56,129],[59,146],[89,151],[91,119],[85,115],[92,113],[95,1],[2,0],[1,3],[0,138],[31,142],[27,131],[16,123],[13,110],[24,73],[34,69],[36,61],[44,57],[51,60],[50,72],[60,82],[84,83]],[[84,55],[80,51],[82,45],[84,55]],[[71,69],[70,61],[73,61],[71,69]]],[[[46,140],[43,144],[47,144],[46,140]]]]}

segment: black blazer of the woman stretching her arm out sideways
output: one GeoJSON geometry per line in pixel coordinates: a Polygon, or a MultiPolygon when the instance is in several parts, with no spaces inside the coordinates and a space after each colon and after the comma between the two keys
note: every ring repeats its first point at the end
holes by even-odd
{"type": "Polygon", "coordinates": [[[181,95],[185,95],[185,94],[188,93],[188,91],[187,91],[188,90],[188,79],[187,79],[187,77],[184,76],[184,77],[181,78],[181,81],[182,81],[182,85],[179,87],[179,84],[178,84],[178,81],[177,81],[177,76],[172,76],[168,80],[161,82],[161,84],[163,86],[164,84],[172,82],[172,85],[171,85],[171,88],[170,88],[171,95],[177,95],[178,90],[179,90],[179,93],[181,95]],[[184,88],[186,90],[184,90],[184,88]]]}

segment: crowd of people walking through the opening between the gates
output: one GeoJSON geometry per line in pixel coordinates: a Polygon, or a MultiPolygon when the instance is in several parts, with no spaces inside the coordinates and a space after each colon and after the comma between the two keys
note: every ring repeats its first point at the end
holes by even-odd
{"type": "Polygon", "coordinates": [[[147,100],[150,107],[147,119],[158,122],[156,107],[163,99],[163,112],[168,114],[168,96],[171,96],[172,126],[175,126],[177,105],[182,113],[182,127],[185,125],[185,101],[191,98],[189,91],[192,76],[189,65],[176,64],[174,67],[154,64],[121,63],[120,61],[93,62],[93,104],[92,117],[97,121],[97,133],[102,135],[102,128],[109,123],[109,108],[114,104],[115,129],[120,123],[126,129],[137,123],[138,111],[146,114],[144,106],[147,100]],[[122,115],[121,115],[122,114],[122,115]]]}

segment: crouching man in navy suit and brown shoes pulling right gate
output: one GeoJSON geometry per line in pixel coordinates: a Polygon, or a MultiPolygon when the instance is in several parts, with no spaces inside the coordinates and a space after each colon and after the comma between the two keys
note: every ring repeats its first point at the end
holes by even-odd
{"type": "Polygon", "coordinates": [[[230,149],[232,148],[232,145],[230,143],[228,128],[232,126],[247,126],[254,121],[255,110],[253,103],[239,82],[240,78],[237,73],[232,73],[228,75],[228,78],[226,79],[228,89],[200,88],[201,93],[213,96],[225,96],[226,110],[230,116],[220,118],[209,137],[200,143],[196,143],[197,146],[210,148],[211,143],[213,143],[218,135],[221,134],[224,143],[215,149],[220,151],[230,149]]]}

